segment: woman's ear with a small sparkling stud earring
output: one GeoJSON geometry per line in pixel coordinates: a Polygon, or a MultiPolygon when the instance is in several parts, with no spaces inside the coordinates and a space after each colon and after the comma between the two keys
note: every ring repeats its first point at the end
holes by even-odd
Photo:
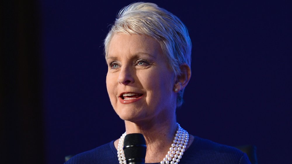
{"type": "Polygon", "coordinates": [[[183,90],[187,86],[187,83],[189,83],[191,78],[191,68],[186,63],[180,66],[180,71],[181,74],[176,77],[176,81],[174,84],[173,90],[175,92],[183,90]]]}

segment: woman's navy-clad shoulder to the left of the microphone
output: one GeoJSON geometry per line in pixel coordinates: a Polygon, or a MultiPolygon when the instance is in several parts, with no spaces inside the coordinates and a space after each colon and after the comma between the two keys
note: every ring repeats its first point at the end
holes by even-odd
{"type": "Polygon", "coordinates": [[[114,147],[114,141],[111,141],[89,151],[79,153],[70,158],[64,164],[112,164],[116,160],[117,151],[114,147]]]}

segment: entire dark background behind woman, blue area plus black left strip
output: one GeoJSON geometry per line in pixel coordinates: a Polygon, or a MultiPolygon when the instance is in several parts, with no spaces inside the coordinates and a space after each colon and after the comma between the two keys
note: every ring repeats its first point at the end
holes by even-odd
{"type": "MultiPolygon", "coordinates": [[[[1,2],[1,163],[63,163],[121,136],[102,43],[132,2],[1,2]]],[[[177,15],[192,39],[180,125],[221,144],[255,145],[260,164],[292,163],[288,3],[146,2],[177,15]]]]}

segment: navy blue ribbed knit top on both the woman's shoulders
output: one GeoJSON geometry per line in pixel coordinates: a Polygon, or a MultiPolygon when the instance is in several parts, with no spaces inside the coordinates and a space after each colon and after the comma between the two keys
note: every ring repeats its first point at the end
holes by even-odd
{"type": "MultiPolygon", "coordinates": [[[[112,141],[77,154],[65,164],[119,164],[117,155],[112,141]]],[[[158,163],[160,164],[160,161],[155,164],[158,163]]],[[[245,153],[234,147],[195,136],[194,142],[185,151],[179,164],[250,164],[250,161],[245,153]]]]}

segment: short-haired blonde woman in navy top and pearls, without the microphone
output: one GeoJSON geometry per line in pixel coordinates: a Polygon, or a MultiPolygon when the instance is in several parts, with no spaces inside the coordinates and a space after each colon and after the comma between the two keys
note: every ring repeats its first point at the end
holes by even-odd
{"type": "Polygon", "coordinates": [[[123,139],[130,133],[144,135],[146,163],[250,163],[241,151],[189,135],[176,123],[191,77],[191,47],[172,13],[152,3],[123,8],[105,39],[105,58],[107,91],[126,132],[67,164],[126,163],[123,139]]]}

